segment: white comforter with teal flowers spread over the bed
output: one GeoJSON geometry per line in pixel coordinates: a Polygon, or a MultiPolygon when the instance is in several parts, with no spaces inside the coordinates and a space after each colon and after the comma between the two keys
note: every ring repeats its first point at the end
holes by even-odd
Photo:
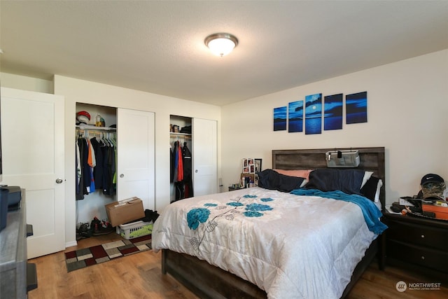
{"type": "Polygon", "coordinates": [[[153,250],[207,260],[268,298],[340,298],[375,237],[356,204],[255,187],[170,204],[153,250]]]}

